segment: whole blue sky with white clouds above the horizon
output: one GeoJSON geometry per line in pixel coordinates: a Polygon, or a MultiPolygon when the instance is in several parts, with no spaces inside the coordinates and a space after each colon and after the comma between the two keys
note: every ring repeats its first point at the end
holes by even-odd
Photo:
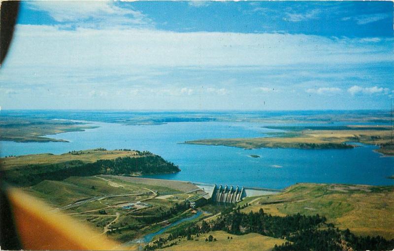
{"type": "Polygon", "coordinates": [[[22,1],[0,106],[390,109],[393,10],[392,1],[22,1]]]}

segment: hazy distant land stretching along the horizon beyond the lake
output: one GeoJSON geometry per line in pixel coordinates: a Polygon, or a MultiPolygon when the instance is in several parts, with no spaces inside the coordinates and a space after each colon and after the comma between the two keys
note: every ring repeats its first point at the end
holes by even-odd
{"type": "MultiPolygon", "coordinates": [[[[99,121],[125,125],[163,125],[175,122],[254,122],[270,123],[268,128],[283,129],[276,123],[318,123],[321,126],[304,126],[303,128],[287,127],[283,130],[345,130],[346,126],[330,128],[324,124],[337,122],[354,123],[390,123],[390,111],[189,111],[189,112],[144,112],[144,111],[86,111],[86,110],[2,110],[0,113],[0,140],[16,142],[67,142],[64,139],[53,139],[47,135],[84,131],[96,128],[89,122],[99,121]],[[334,129],[335,128],[335,129],[334,129]]],[[[368,130],[373,126],[358,128],[368,130]]],[[[372,128],[371,128],[372,130],[372,128]]],[[[374,130],[387,130],[375,128],[374,130]]],[[[393,130],[393,129],[392,129],[393,130]]],[[[304,142],[305,148],[319,148],[304,142]]],[[[283,142],[282,142],[283,144],[283,142]]],[[[269,144],[267,144],[269,145],[269,144]]],[[[280,147],[278,144],[276,147],[280,147]]],[[[269,147],[269,146],[267,146],[269,147]]],[[[288,147],[283,144],[283,147],[288,147]]],[[[294,145],[292,146],[294,147],[294,145]]],[[[326,145],[327,147],[344,147],[342,145],[326,145]]],[[[246,147],[247,148],[247,147],[246,147]]],[[[252,147],[254,148],[254,146],[252,147]]],[[[389,146],[386,148],[390,148],[389,146]]]]}

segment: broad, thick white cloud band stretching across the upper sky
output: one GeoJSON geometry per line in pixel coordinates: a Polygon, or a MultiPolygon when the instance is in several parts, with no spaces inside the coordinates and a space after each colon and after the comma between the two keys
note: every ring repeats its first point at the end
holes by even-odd
{"type": "Polygon", "coordinates": [[[302,34],[171,32],[154,29],[59,30],[18,25],[7,63],[31,68],[268,66],[393,61],[393,41],[333,40],[302,34]],[[56,59],[56,60],[54,60],[56,59]]]}

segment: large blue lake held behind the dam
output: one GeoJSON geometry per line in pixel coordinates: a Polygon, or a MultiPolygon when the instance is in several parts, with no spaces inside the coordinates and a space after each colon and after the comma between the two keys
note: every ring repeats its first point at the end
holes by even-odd
{"type": "Polygon", "coordinates": [[[161,155],[182,169],[175,174],[149,176],[155,178],[275,189],[297,182],[394,185],[394,180],[387,178],[394,174],[394,157],[382,157],[373,151],[377,147],[371,145],[338,150],[244,150],[180,143],[193,139],[263,137],[264,133],[272,130],[263,128],[264,124],[241,122],[176,122],[164,125],[94,122],[92,125],[99,128],[49,136],[70,142],[1,141],[1,156],[61,154],[97,147],[130,148],[161,155]],[[250,154],[261,158],[251,158],[250,154]]]}

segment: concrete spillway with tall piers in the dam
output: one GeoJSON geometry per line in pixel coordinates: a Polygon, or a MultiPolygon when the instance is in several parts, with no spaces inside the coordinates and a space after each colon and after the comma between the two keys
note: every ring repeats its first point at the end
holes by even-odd
{"type": "Polygon", "coordinates": [[[240,201],[243,197],[245,197],[245,189],[230,186],[217,186],[215,185],[212,193],[212,201],[222,202],[222,203],[235,203],[240,201]]]}

